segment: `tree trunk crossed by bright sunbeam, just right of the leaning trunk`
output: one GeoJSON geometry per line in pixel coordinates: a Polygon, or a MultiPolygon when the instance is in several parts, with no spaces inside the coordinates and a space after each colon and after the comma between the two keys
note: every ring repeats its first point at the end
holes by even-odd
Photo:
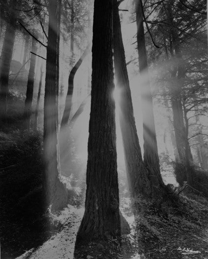
{"type": "Polygon", "coordinates": [[[147,55],[145,47],[142,0],[136,0],[137,42],[139,53],[139,72],[141,80],[141,102],[143,114],[143,161],[149,170],[149,178],[156,188],[163,188],[164,183],[160,174],[157,139],[155,131],[154,113],[150,81],[148,75],[147,55]],[[144,79],[145,78],[145,79],[144,79]]]}

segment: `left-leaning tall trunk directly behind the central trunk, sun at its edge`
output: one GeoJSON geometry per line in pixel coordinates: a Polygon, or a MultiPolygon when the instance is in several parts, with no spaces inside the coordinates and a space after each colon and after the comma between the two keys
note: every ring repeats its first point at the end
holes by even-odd
{"type": "Polygon", "coordinates": [[[131,90],[121,34],[118,2],[113,0],[113,57],[116,87],[119,89],[119,120],[130,192],[150,195],[148,171],[143,165],[132,105],[131,90]]]}

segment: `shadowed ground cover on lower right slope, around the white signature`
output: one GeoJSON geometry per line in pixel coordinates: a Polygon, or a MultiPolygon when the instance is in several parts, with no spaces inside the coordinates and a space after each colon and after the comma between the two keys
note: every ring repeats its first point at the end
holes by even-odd
{"type": "Polygon", "coordinates": [[[208,258],[208,201],[205,198],[189,192],[180,195],[175,205],[165,201],[157,209],[154,204],[142,201],[140,206],[136,233],[140,254],[145,258],[186,258],[177,250],[179,247],[201,252],[188,258],[208,258]]]}

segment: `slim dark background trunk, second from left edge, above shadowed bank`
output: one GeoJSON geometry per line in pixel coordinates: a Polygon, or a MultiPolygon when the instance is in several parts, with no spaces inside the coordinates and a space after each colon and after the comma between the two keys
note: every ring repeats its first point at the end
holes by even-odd
{"type": "MultiPolygon", "coordinates": [[[[36,53],[36,50],[37,50],[36,40],[33,38],[33,40],[32,40],[32,52],[36,53]]],[[[34,78],[35,77],[35,62],[36,62],[36,56],[31,53],[31,62],[30,62],[28,84],[27,84],[27,93],[26,93],[26,100],[25,100],[25,110],[24,110],[24,114],[23,114],[24,128],[25,129],[30,129],[34,80],[35,80],[35,78],[34,78]]]]}

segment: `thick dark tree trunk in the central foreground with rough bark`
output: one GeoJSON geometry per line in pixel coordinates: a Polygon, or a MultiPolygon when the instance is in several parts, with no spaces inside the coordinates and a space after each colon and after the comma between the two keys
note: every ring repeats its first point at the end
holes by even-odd
{"type": "Polygon", "coordinates": [[[120,236],[112,0],[95,0],[85,213],[77,243],[120,236]]]}

